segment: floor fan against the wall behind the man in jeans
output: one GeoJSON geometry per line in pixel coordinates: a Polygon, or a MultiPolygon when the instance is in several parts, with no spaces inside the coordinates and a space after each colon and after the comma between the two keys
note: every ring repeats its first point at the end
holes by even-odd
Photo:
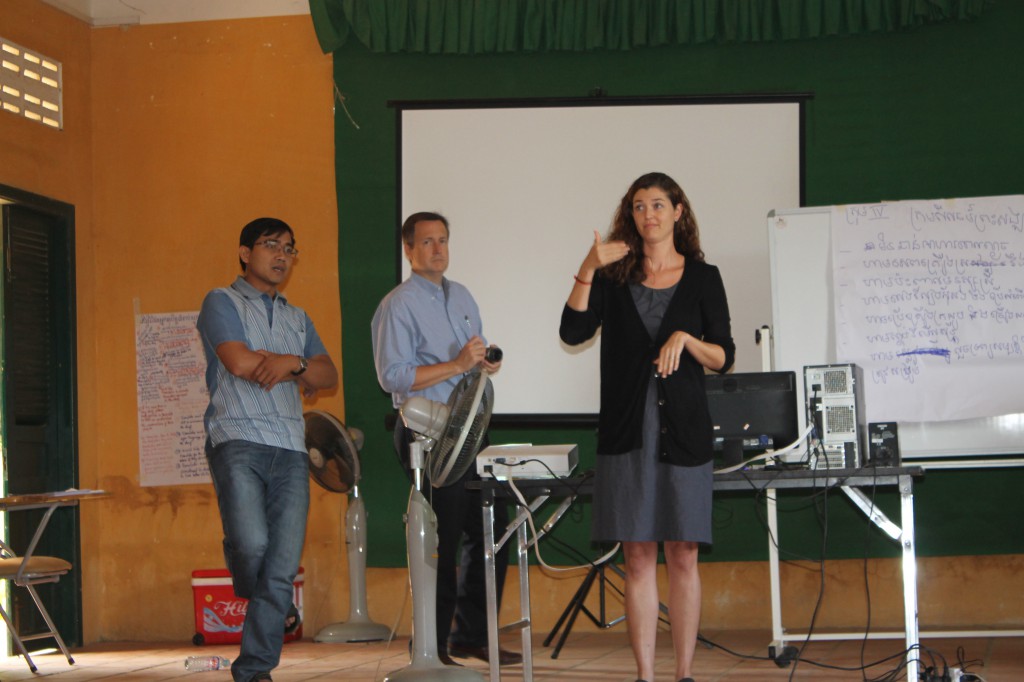
{"type": "Polygon", "coordinates": [[[326,412],[304,415],[309,474],[321,487],[348,494],[345,544],[348,547],[348,621],[323,628],[317,642],[376,642],[387,639],[390,629],[370,620],[367,612],[367,511],[359,497],[359,450],[362,432],[346,428],[326,412]]]}

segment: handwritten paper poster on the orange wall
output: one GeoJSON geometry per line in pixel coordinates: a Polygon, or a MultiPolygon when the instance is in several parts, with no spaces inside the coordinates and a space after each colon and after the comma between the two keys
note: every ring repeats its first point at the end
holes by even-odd
{"type": "Polygon", "coordinates": [[[210,400],[199,312],[135,315],[140,485],[210,481],[203,414],[210,400]]]}

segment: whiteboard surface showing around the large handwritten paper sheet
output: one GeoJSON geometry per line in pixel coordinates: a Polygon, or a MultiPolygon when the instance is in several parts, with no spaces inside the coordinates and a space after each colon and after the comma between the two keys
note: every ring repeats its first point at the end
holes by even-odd
{"type": "MultiPolygon", "coordinates": [[[[771,260],[773,358],[798,377],[808,365],[834,364],[836,325],[830,240],[833,207],[772,211],[767,230],[771,260]]],[[[804,404],[803,381],[800,404],[804,404]]],[[[801,411],[801,428],[806,420],[801,411]]],[[[900,422],[905,458],[1019,455],[1024,415],[944,422],[900,422]]]]}

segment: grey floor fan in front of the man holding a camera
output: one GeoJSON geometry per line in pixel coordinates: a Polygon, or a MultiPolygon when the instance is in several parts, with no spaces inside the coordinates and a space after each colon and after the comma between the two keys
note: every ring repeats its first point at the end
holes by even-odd
{"type": "Polygon", "coordinates": [[[447,404],[411,397],[399,413],[416,435],[410,444],[413,489],[406,515],[409,581],[413,590],[412,660],[385,682],[457,681],[484,678],[468,668],[445,666],[437,655],[437,519],[423,495],[423,474],[443,487],[458,481],[473,464],[490,422],[494,389],[486,371],[467,375],[447,404]]]}

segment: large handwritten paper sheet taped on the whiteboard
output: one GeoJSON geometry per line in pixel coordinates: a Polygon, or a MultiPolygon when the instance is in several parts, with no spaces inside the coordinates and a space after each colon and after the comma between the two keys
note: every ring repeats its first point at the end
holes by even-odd
{"type": "Polygon", "coordinates": [[[1024,197],[836,206],[831,242],[868,421],[1024,412],[1024,197]]]}

